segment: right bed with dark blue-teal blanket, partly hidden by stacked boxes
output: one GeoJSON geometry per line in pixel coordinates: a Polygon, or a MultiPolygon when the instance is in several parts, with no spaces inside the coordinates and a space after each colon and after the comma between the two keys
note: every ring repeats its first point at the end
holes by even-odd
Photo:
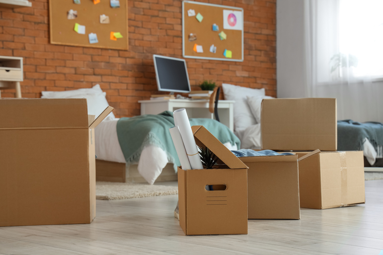
{"type": "MultiPolygon", "coordinates": [[[[241,149],[260,150],[260,107],[264,89],[253,89],[223,83],[226,100],[234,103],[234,134],[241,140],[241,149]]],[[[338,150],[363,150],[365,166],[383,167],[383,124],[359,123],[352,120],[338,121],[338,150]]],[[[367,169],[367,168],[366,168],[367,169]]],[[[368,169],[367,169],[368,171],[368,169]]]]}

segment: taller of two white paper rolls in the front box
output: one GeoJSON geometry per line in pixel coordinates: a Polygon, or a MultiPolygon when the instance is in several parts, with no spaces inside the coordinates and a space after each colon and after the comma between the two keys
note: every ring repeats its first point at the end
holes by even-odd
{"type": "Polygon", "coordinates": [[[180,129],[183,145],[185,146],[191,169],[203,169],[200,154],[198,153],[185,108],[175,110],[173,116],[174,122],[177,123],[178,128],[180,129]]]}

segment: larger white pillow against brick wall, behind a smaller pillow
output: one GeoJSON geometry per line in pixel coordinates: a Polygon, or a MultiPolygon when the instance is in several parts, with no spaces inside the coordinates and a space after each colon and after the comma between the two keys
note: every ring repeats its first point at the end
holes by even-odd
{"type": "Polygon", "coordinates": [[[245,129],[257,124],[247,104],[246,96],[264,96],[265,89],[246,88],[227,83],[222,83],[226,100],[234,100],[234,130],[245,129]]]}

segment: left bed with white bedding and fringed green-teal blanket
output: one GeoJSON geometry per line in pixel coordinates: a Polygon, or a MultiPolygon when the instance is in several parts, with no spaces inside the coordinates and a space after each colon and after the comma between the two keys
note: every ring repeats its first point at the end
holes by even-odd
{"type": "MultiPolygon", "coordinates": [[[[78,90],[45,91],[41,97],[86,98],[88,114],[95,116],[108,106],[105,92],[98,84],[78,90]]],[[[198,118],[190,119],[190,123],[205,126],[229,149],[239,149],[239,139],[224,124],[198,118]]],[[[177,180],[179,160],[169,133],[172,126],[174,119],[169,111],[121,119],[110,113],[95,128],[97,180],[150,184],[156,180],[177,180]]]]}

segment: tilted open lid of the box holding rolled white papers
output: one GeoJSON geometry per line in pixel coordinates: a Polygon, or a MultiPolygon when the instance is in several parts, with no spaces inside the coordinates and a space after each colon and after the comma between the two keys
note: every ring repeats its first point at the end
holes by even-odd
{"type": "Polygon", "coordinates": [[[204,126],[192,126],[196,143],[208,147],[223,163],[232,169],[248,168],[240,159],[225,147],[204,126]]]}

